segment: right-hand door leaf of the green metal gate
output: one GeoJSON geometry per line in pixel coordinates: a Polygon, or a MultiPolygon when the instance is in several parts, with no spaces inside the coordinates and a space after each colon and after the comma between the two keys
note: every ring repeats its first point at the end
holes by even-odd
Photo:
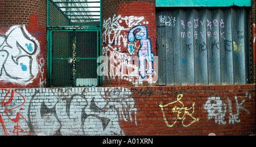
{"type": "Polygon", "coordinates": [[[92,31],[77,32],[76,38],[76,86],[96,86],[98,85],[98,33],[92,31]]]}

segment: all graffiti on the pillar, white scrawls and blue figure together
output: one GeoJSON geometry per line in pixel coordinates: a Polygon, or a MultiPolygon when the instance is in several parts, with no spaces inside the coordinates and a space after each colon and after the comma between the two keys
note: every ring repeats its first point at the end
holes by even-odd
{"type": "Polygon", "coordinates": [[[151,53],[151,41],[148,38],[147,28],[142,24],[149,24],[148,21],[144,21],[143,16],[114,15],[113,18],[104,20],[102,55],[106,58],[102,58],[105,60],[101,64],[104,71],[98,72],[104,76],[103,79],[125,80],[133,84],[143,84],[144,81],[150,84],[156,83],[157,74],[152,68],[153,65],[155,67],[155,63],[154,54],[151,53]],[[142,30],[142,26],[145,29],[142,30]],[[131,31],[131,28],[134,28],[134,31],[131,31]],[[138,30],[142,32],[141,35],[144,33],[144,36],[136,40],[133,33],[138,33],[135,32],[138,30]],[[129,40],[129,34],[134,37],[134,41],[129,40]],[[147,64],[144,64],[144,60],[147,64]],[[145,66],[149,66],[147,75],[144,72],[145,66]]]}

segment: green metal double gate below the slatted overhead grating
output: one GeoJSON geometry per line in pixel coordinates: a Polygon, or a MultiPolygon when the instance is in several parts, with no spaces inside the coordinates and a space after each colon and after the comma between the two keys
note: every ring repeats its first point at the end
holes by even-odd
{"type": "Polygon", "coordinates": [[[100,85],[97,58],[101,30],[68,29],[49,31],[49,84],[51,87],[100,85]]]}

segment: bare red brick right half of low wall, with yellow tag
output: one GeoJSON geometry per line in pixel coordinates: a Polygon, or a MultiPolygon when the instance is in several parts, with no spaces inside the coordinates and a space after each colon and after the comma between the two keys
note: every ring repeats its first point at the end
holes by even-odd
{"type": "Polygon", "coordinates": [[[255,131],[255,85],[139,87],[131,93],[138,126],[122,122],[126,135],[233,136],[255,131]]]}

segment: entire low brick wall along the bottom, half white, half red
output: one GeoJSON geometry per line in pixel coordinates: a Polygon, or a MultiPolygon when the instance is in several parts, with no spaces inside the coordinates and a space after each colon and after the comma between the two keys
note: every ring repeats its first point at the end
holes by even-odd
{"type": "Polygon", "coordinates": [[[250,135],[255,84],[0,89],[0,135],[250,135]]]}

